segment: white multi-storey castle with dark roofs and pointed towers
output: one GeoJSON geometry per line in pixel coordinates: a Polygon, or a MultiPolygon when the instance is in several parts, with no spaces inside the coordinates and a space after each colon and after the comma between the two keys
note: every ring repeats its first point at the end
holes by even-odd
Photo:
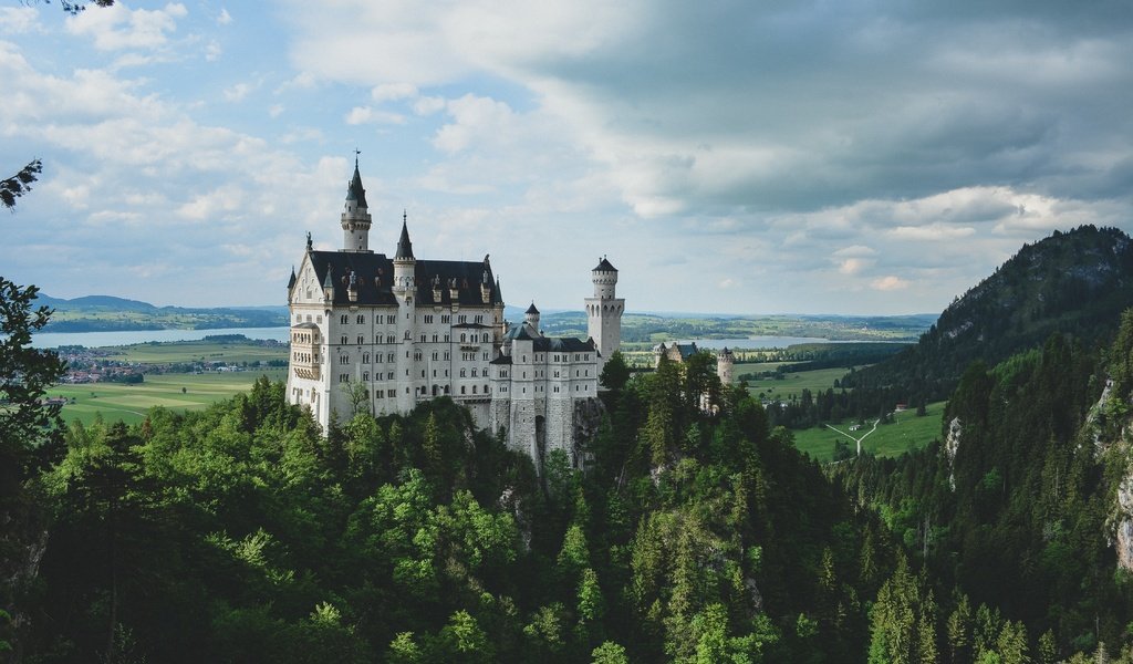
{"type": "Polygon", "coordinates": [[[542,467],[554,449],[576,463],[597,412],[598,375],[621,346],[625,300],[605,258],[586,298],[586,341],[539,331],[533,303],[523,323],[504,321],[500,281],[482,262],[414,256],[408,222],[393,258],[369,249],[372,219],[358,162],[347,187],[342,248],[307,250],[288,283],[291,356],[287,394],[325,431],[356,410],[407,414],[450,397],[477,426],[506,432],[509,446],[542,467]]]}

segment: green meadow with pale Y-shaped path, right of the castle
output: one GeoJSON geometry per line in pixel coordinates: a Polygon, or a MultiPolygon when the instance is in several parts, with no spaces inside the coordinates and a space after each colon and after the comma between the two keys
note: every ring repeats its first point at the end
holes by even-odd
{"type": "MultiPolygon", "coordinates": [[[[908,450],[920,449],[934,440],[938,440],[945,403],[945,401],[929,403],[926,407],[928,414],[923,417],[917,417],[915,410],[895,414],[893,424],[878,425],[877,431],[866,436],[866,440],[862,441],[862,450],[878,457],[900,457],[908,450]]],[[[834,426],[854,436],[861,436],[872,428],[872,420],[857,432],[849,431],[850,424],[846,420],[834,426]]],[[[816,426],[791,433],[794,434],[794,446],[819,461],[830,460],[834,456],[834,442],[840,439],[844,440],[851,450],[857,449],[853,441],[841,436],[826,426],[816,426]]]]}

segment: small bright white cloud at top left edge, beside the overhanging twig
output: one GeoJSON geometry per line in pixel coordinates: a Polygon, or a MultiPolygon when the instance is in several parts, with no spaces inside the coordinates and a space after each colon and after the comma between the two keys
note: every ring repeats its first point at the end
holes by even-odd
{"type": "Polygon", "coordinates": [[[181,3],[170,3],[163,9],[128,9],[117,2],[99,11],[83,11],[67,19],[67,31],[75,35],[91,36],[101,51],[122,49],[156,49],[168,42],[167,33],[177,29],[177,19],[188,10],[181,3]]]}

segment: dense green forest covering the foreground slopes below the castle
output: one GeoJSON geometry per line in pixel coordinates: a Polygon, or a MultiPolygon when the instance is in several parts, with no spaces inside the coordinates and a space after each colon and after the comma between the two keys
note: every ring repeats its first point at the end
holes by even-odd
{"type": "Polygon", "coordinates": [[[63,425],[48,312],[3,287],[12,661],[1133,662],[1133,310],[970,363],[938,442],[826,466],[709,354],[615,356],[581,462],[537,473],[448,399],[324,434],[267,378],[63,425]]]}

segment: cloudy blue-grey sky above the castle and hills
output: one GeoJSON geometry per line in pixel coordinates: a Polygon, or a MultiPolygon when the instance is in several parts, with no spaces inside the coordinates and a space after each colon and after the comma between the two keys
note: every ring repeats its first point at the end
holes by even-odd
{"type": "Polygon", "coordinates": [[[936,313],[1133,230],[1131,63],[1124,0],[0,0],[0,274],[286,304],[357,156],[372,248],[406,214],[512,305],[607,256],[629,310],[936,313]]]}

